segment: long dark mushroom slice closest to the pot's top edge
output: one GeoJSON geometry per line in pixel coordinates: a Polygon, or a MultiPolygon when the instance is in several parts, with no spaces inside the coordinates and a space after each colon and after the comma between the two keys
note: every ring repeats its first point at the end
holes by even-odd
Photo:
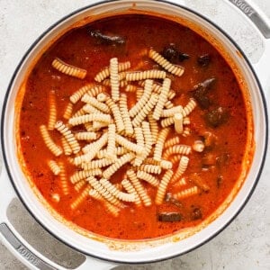
{"type": "Polygon", "coordinates": [[[105,44],[105,45],[123,45],[126,42],[124,37],[113,33],[103,33],[99,30],[92,30],[88,29],[91,37],[93,37],[98,44],[105,44]]]}

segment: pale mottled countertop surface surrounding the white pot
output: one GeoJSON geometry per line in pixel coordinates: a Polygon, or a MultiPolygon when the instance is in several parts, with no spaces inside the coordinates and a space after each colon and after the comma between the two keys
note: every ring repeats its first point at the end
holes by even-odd
{"type": "MultiPolygon", "coordinates": [[[[65,14],[89,4],[85,0],[0,0],[0,95],[3,96],[15,67],[31,43],[65,14]]],[[[187,0],[205,14],[214,14],[217,1],[187,0]],[[199,6],[200,5],[200,6],[199,6]],[[212,8],[212,9],[211,9],[212,8]]],[[[270,18],[270,1],[257,0],[270,18]]],[[[229,28],[228,21],[228,28],[229,28]]],[[[225,22],[226,24],[226,22],[225,22]]],[[[242,25],[246,31],[246,25],[242,25]]],[[[226,27],[225,27],[226,28],[226,27]]],[[[240,27],[239,27],[240,29],[240,27]]],[[[249,58],[256,58],[260,42],[252,34],[235,31],[249,58]]],[[[253,31],[252,29],[250,31],[253,31]]],[[[255,34],[256,35],[256,34],[255,34]]],[[[270,59],[269,59],[270,61],[270,59]]],[[[270,76],[270,71],[269,71],[270,76]]],[[[269,92],[269,85],[266,87],[269,92]]],[[[269,96],[269,95],[268,95],[269,96]]],[[[1,100],[1,99],[0,99],[1,100]]],[[[1,102],[2,105],[2,102],[1,102]]],[[[270,269],[270,158],[257,189],[247,206],[227,229],[210,242],[182,257],[147,266],[119,266],[117,269],[270,269]]],[[[21,217],[23,218],[23,217],[21,217]]],[[[20,219],[20,216],[18,216],[20,219]]],[[[30,238],[39,238],[32,229],[30,238]]],[[[0,244],[0,269],[26,269],[0,244]]]]}

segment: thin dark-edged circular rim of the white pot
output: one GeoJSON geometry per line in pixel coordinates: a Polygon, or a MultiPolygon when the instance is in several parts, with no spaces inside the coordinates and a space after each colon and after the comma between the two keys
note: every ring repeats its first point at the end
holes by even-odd
{"type": "MultiPolygon", "coordinates": [[[[139,1],[139,0],[137,0],[139,1]]],[[[137,2],[136,0],[135,1],[132,1],[132,2],[137,2]]],[[[76,11],[70,13],[70,14],[67,14],[66,16],[62,17],[61,19],[59,19],[56,23],[52,23],[51,26],[49,26],[49,28],[45,31],[43,31],[40,36],[33,41],[33,43],[31,44],[30,48],[26,50],[26,52],[24,53],[23,55],[23,58],[20,60],[19,64],[17,65],[17,67],[15,68],[14,70],[14,74],[10,80],[10,83],[7,87],[7,90],[4,94],[4,103],[3,103],[3,108],[2,108],[2,115],[1,115],[1,145],[2,145],[2,149],[3,149],[3,159],[4,159],[4,168],[7,172],[7,175],[14,187],[14,190],[16,192],[16,194],[18,195],[18,197],[20,198],[20,201],[23,202],[23,206],[27,209],[28,212],[31,213],[31,216],[33,217],[34,220],[36,220],[41,226],[43,229],[45,229],[46,231],[49,232],[50,235],[52,235],[54,238],[57,238],[60,242],[64,243],[65,245],[67,245],[68,247],[71,247],[73,248],[74,250],[80,252],[80,253],[83,253],[85,254],[85,256],[90,256],[90,257],[95,257],[95,258],[98,258],[98,259],[102,259],[104,261],[108,261],[108,262],[113,262],[113,263],[121,263],[121,264],[145,264],[145,263],[154,263],[154,262],[159,262],[159,261],[164,261],[164,260],[167,260],[167,259],[171,259],[171,258],[174,258],[174,257],[178,257],[180,255],[184,255],[192,250],[194,250],[195,248],[197,247],[201,247],[202,245],[204,245],[205,243],[207,243],[208,241],[210,241],[212,238],[216,237],[223,229],[227,228],[227,226],[229,226],[229,224],[231,223],[232,220],[234,220],[237,216],[238,216],[238,213],[240,211],[242,211],[242,209],[246,206],[249,198],[251,197],[252,193],[254,192],[256,186],[257,186],[257,183],[258,183],[258,180],[262,174],[262,171],[263,171],[263,168],[264,168],[264,165],[265,165],[265,162],[266,162],[266,152],[267,152],[267,147],[268,147],[268,113],[267,113],[267,107],[266,107],[266,97],[265,97],[265,94],[264,94],[264,91],[263,91],[263,88],[262,88],[262,85],[260,84],[260,81],[257,77],[257,74],[252,66],[252,64],[250,63],[250,61],[248,60],[246,54],[244,53],[244,51],[242,49],[240,49],[238,47],[238,44],[235,40],[233,40],[233,38],[226,32],[226,31],[223,31],[219,25],[217,25],[216,23],[213,23],[209,18],[207,18],[206,16],[196,12],[196,11],[193,11],[193,9],[187,7],[187,6],[184,6],[182,4],[176,4],[176,3],[172,3],[170,2],[169,0],[150,0],[152,2],[157,2],[157,4],[160,2],[160,3],[164,3],[164,4],[170,4],[170,5],[174,5],[175,8],[181,8],[191,14],[194,14],[196,16],[198,16],[199,18],[201,18],[203,21],[205,21],[206,23],[210,23],[211,26],[213,26],[215,29],[217,29],[220,34],[222,34],[225,38],[227,38],[229,40],[229,42],[232,43],[232,45],[238,49],[238,51],[241,53],[241,55],[243,56],[244,58],[244,61],[247,63],[247,67],[249,68],[249,70],[251,71],[251,74],[252,76],[254,76],[255,78],[255,82],[257,84],[257,89],[258,89],[258,93],[261,97],[261,100],[262,100],[262,103],[263,103],[263,108],[262,108],[262,111],[264,112],[265,116],[266,116],[266,121],[265,121],[265,125],[266,125],[266,138],[264,138],[264,141],[265,141],[265,148],[264,148],[264,152],[262,153],[262,160],[261,160],[261,164],[259,165],[259,169],[258,169],[258,172],[257,172],[257,176],[256,176],[256,179],[254,180],[253,184],[252,184],[252,187],[250,189],[250,192],[247,194],[247,197],[245,199],[245,201],[240,205],[240,207],[238,208],[238,211],[236,211],[233,215],[230,216],[229,220],[227,222],[225,222],[221,227],[220,229],[216,230],[213,234],[211,234],[208,238],[205,238],[202,240],[202,242],[200,242],[199,244],[197,245],[194,245],[193,247],[190,247],[189,249],[185,250],[184,252],[180,252],[176,255],[172,255],[172,256],[168,256],[168,257],[162,257],[162,258],[157,258],[157,259],[151,259],[151,260],[143,260],[143,261],[139,261],[139,262],[133,262],[133,261],[130,261],[130,262],[126,262],[126,261],[121,261],[121,260],[113,260],[113,259],[109,259],[109,258],[104,258],[102,256],[96,256],[96,255],[93,255],[91,253],[87,253],[83,250],[81,250],[80,248],[78,247],[74,247],[72,244],[68,243],[65,239],[63,238],[60,238],[58,237],[57,234],[55,234],[55,232],[53,232],[51,229],[49,229],[48,227],[46,227],[41,220],[39,220],[34,211],[31,210],[31,208],[28,206],[28,204],[26,202],[24,202],[23,200],[23,196],[21,195],[20,191],[18,190],[16,184],[14,183],[14,179],[12,177],[12,168],[10,168],[8,166],[8,157],[6,157],[6,153],[5,153],[5,143],[4,143],[4,118],[5,118],[5,115],[6,115],[6,105],[7,105],[7,100],[9,98],[9,95],[10,93],[12,92],[12,88],[13,88],[13,85],[14,85],[14,80],[20,70],[20,68],[23,66],[23,63],[24,63],[24,60],[29,56],[31,55],[31,51],[36,47],[36,45],[40,42],[40,40],[42,40],[43,37],[45,37],[50,31],[53,31],[55,28],[58,27],[58,24],[59,23],[63,23],[65,22],[68,18],[70,18],[71,16],[73,15],[76,15],[76,14],[79,14],[81,12],[84,12],[85,10],[89,9],[89,8],[92,8],[94,6],[98,6],[100,4],[104,4],[104,3],[113,3],[113,2],[121,2],[121,0],[108,0],[108,1],[98,1],[98,2],[95,2],[94,4],[87,4],[86,6],[82,7],[82,8],[79,8],[79,9],[76,9],[76,11]]],[[[140,1],[139,1],[140,2],[140,1]]]]}

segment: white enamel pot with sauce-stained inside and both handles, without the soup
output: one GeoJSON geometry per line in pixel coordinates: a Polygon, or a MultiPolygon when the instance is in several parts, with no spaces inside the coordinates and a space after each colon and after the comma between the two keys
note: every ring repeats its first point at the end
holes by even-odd
{"type": "MultiPolygon", "coordinates": [[[[270,58],[270,26],[264,15],[257,13],[245,1],[231,0],[229,8],[239,9],[239,16],[247,16],[257,24],[258,33],[265,39],[263,56],[252,66],[248,58],[228,34],[211,23],[207,18],[187,8],[184,1],[152,1],[152,0],[120,0],[92,4],[74,14],[69,14],[64,19],[55,23],[45,31],[31,46],[16,68],[12,81],[4,98],[4,107],[1,122],[1,142],[4,155],[4,169],[0,178],[0,239],[16,257],[31,269],[64,269],[43,257],[23,240],[20,234],[6,217],[8,204],[15,196],[19,196],[40,224],[49,232],[68,246],[86,255],[85,263],[77,269],[109,269],[115,264],[147,263],[164,260],[182,255],[195,247],[201,246],[210,238],[224,229],[243,208],[247,199],[253,192],[261,174],[266,157],[267,146],[267,111],[266,102],[261,85],[266,85],[268,78],[267,62],[270,58]],[[181,2],[181,4],[179,4],[181,2]],[[81,22],[88,16],[103,16],[104,14],[124,13],[128,9],[143,10],[151,13],[165,14],[182,20],[191,28],[199,31],[205,38],[214,40],[215,46],[223,51],[224,57],[238,70],[238,79],[242,79],[247,86],[248,103],[251,108],[250,121],[254,123],[254,137],[256,150],[253,162],[250,165],[246,180],[241,184],[237,194],[230,194],[227,200],[228,207],[220,209],[217,219],[212,220],[207,226],[201,225],[195,230],[185,230],[174,236],[166,238],[149,239],[144,241],[123,241],[105,238],[89,238],[67,226],[53,216],[42,198],[32,191],[19,165],[16,155],[14,121],[15,98],[32,65],[33,59],[39,56],[40,51],[48,47],[51,40],[55,40],[61,33],[67,31],[71,25],[81,22]],[[254,71],[256,69],[257,73],[254,71]],[[260,82],[257,78],[260,77],[260,82]],[[12,186],[13,185],[13,186],[12,186]],[[195,232],[195,233],[194,233],[195,232]]],[[[245,174],[245,171],[243,171],[245,174]]]]}

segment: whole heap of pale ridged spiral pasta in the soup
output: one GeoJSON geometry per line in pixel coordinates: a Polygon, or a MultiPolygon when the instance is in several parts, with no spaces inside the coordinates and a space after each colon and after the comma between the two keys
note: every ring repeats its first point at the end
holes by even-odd
{"type": "MultiPolygon", "coordinates": [[[[175,91],[168,74],[182,76],[184,68],[171,64],[154,49],[148,50],[148,57],[161,68],[129,71],[129,61],[118,63],[117,58],[111,58],[109,67],[94,77],[96,84],[85,85],[70,96],[63,121],[57,119],[55,93],[49,92],[49,122],[40,126],[40,134],[55,157],[65,155],[76,166],[75,173],[67,178],[62,162],[53,157],[48,161],[64,194],[70,192],[67,182],[74,184],[78,196],[72,209],[87,196],[103,202],[114,216],[125,202],[146,207],[161,204],[168,184],[183,184],[181,175],[188,166],[190,152],[203,150],[202,141],[194,141],[192,146],[180,144],[179,137],[190,134],[189,114],[196,103],[193,99],[182,105],[172,102],[175,91]],[[129,92],[137,96],[137,103],[131,108],[127,102],[129,92]],[[73,112],[78,101],[83,106],[73,112]],[[61,134],[61,146],[55,143],[50,130],[61,134]],[[167,139],[170,130],[176,136],[167,139]],[[173,172],[175,163],[178,166],[173,172]],[[112,184],[112,175],[122,166],[127,170],[121,184],[112,184]],[[143,182],[156,187],[154,202],[143,182]]],[[[86,76],[85,69],[70,66],[59,58],[54,59],[52,67],[68,76],[86,76]]],[[[196,193],[198,188],[194,185],[173,196],[181,199],[196,193]]],[[[59,194],[55,193],[53,199],[58,202],[59,194]]]]}

